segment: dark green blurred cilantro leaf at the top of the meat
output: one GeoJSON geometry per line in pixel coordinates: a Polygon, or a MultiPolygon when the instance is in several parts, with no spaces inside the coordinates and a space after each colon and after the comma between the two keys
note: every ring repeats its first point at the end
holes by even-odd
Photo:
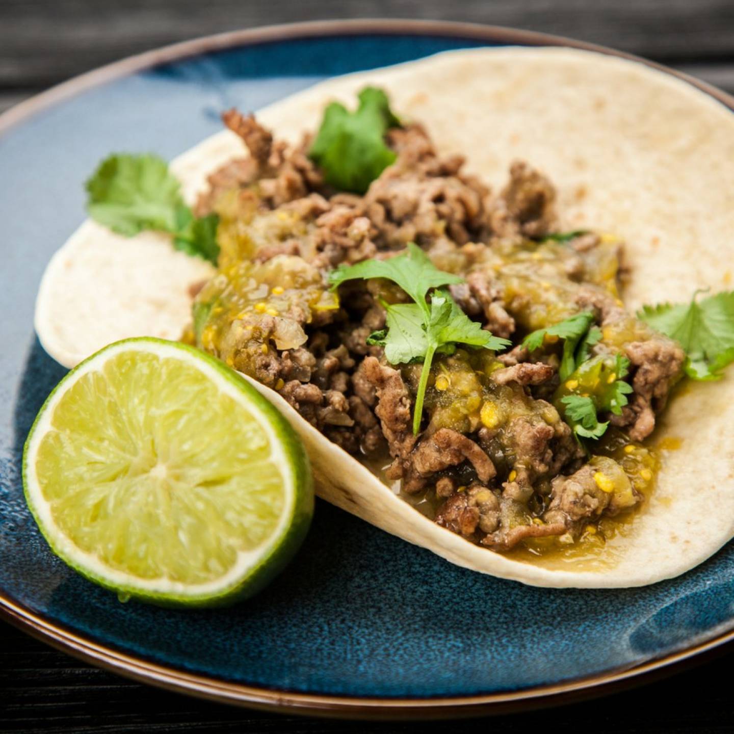
{"type": "Polygon", "coordinates": [[[382,90],[366,87],[357,98],[355,112],[338,102],[327,106],[308,155],[324,171],[327,183],[363,194],[395,162],[396,153],[385,145],[385,132],[400,123],[382,90]]]}

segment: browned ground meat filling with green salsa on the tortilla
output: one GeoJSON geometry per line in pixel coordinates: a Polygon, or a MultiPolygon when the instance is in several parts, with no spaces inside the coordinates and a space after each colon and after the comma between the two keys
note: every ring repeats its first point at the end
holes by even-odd
{"type": "Polygon", "coordinates": [[[219,214],[222,247],[218,275],[192,291],[206,316],[197,344],[277,390],[350,454],[389,457],[386,479],[425,493],[437,524],[495,551],[573,542],[588,523],[642,501],[621,465],[590,458],[562,420],[562,343],[530,353],[521,342],[590,311],[603,333],[592,355],[625,355],[633,388],[621,415],[600,419],[637,441],[653,431],[685,355],[617,298],[621,244],[591,232],[554,241],[557,197],[545,175],[515,161],[492,192],[411,123],[388,131],[396,161],[358,196],[324,183],[310,138],[286,145],[236,110],[222,120],[249,155],[215,171],[197,202],[198,215],[219,214]],[[515,343],[484,361],[437,357],[418,435],[415,372],[367,341],[385,327],[384,283],[346,283],[338,298],[327,283],[336,266],[393,257],[409,242],[464,277],[449,288],[459,308],[515,343]],[[445,393],[441,365],[455,380],[445,393]]]}

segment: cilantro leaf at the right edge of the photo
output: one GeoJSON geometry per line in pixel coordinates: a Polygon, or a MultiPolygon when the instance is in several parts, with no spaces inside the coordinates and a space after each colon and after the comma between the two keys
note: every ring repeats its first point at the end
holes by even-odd
{"type": "Polygon", "coordinates": [[[637,316],[680,343],[688,377],[720,379],[724,367],[734,362],[734,291],[697,297],[698,292],[688,304],[644,306],[637,316]]]}

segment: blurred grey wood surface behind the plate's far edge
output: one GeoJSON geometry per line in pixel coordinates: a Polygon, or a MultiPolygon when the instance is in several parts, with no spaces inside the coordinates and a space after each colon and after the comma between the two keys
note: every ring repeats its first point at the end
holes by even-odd
{"type": "Polygon", "coordinates": [[[734,91],[732,0],[0,0],[0,109],[156,46],[326,18],[434,18],[555,33],[734,91]]]}

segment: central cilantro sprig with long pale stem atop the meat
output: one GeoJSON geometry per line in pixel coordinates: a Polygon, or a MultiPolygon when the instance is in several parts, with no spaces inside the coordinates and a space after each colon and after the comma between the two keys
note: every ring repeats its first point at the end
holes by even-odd
{"type": "Polygon", "coordinates": [[[391,364],[423,362],[413,409],[413,433],[417,434],[436,354],[452,354],[457,344],[496,351],[511,343],[482,329],[482,324],[472,321],[459,308],[448,291],[440,286],[461,283],[462,278],[437,269],[425,252],[413,243],[408,244],[405,255],[396,258],[341,266],[331,273],[330,283],[332,288],[338,288],[346,280],[376,277],[391,280],[413,299],[413,303],[395,305],[383,302],[387,327],[373,333],[368,342],[383,346],[385,358],[391,364]],[[429,296],[430,302],[426,300],[429,296]]]}

